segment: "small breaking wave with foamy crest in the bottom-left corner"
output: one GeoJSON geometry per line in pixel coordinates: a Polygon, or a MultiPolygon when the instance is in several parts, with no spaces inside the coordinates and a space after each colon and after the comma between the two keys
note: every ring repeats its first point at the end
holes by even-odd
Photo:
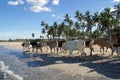
{"type": "Polygon", "coordinates": [[[3,61],[0,61],[0,80],[23,80],[23,77],[15,74],[14,71],[9,70],[3,61]]]}

